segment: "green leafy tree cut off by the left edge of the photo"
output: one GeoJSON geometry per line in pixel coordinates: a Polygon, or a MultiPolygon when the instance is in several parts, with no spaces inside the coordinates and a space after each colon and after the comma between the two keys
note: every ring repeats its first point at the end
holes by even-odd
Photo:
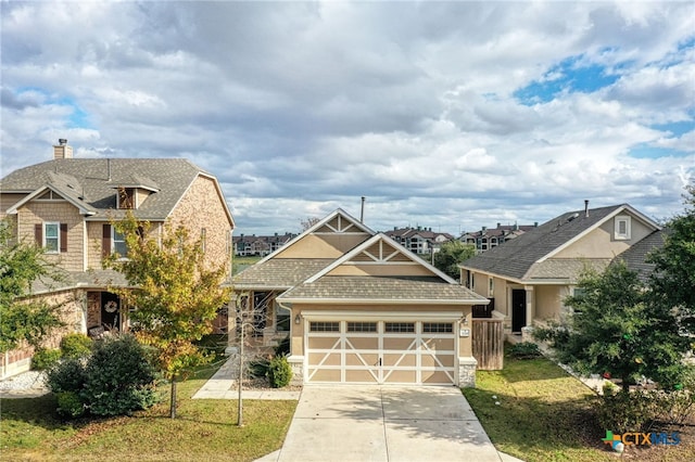
{"type": "Polygon", "coordinates": [[[43,249],[14,239],[8,220],[0,222],[0,352],[21,346],[38,347],[41,339],[64,323],[60,306],[27,298],[31,284],[58,275],[43,249]]]}

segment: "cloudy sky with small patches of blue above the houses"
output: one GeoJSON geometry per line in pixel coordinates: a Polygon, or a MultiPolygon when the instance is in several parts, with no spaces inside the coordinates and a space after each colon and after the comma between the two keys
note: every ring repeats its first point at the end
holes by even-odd
{"type": "Polygon", "coordinates": [[[458,234],[695,181],[695,2],[0,3],[2,176],[187,157],[236,234],[458,234]]]}

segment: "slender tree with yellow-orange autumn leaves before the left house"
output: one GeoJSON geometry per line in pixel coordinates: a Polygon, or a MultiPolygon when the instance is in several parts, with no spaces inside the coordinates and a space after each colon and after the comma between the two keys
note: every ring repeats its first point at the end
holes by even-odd
{"type": "Polygon", "coordinates": [[[149,222],[138,222],[131,214],[113,226],[124,235],[128,253],[112,255],[104,266],[122,272],[130,285],[113,291],[134,307],[131,329],[138,341],[157,351],[157,365],[170,382],[174,419],[176,382],[211,359],[194,342],[212,333],[217,310],[229,300],[222,287],[226,268],[210,268],[202,243],[190,239],[184,227],[166,223],[155,236],[149,222]]]}

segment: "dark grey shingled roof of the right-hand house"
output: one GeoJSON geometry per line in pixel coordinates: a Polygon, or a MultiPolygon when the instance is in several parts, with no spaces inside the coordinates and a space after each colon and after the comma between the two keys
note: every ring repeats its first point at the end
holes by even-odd
{"type": "MultiPolygon", "coordinates": [[[[469,258],[462,262],[460,267],[517,280],[541,278],[545,273],[554,274],[556,278],[569,277],[577,272],[577,268],[566,268],[567,271],[559,271],[561,268],[551,269],[547,267],[555,264],[543,260],[544,257],[548,257],[626,209],[642,217],[642,214],[628,204],[592,208],[587,213],[584,209],[568,211],[509,242],[505,242],[504,245],[469,258]]],[[[644,218],[649,221],[646,217],[644,218]]],[[[601,268],[607,266],[609,261],[609,259],[599,259],[589,264],[601,268]]],[[[569,265],[581,266],[585,262],[582,260],[576,260],[569,265]]]]}

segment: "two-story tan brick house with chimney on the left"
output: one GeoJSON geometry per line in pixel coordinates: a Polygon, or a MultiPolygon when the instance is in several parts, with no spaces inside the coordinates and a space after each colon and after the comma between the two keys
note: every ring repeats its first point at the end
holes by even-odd
{"type": "MultiPolygon", "coordinates": [[[[53,154],[2,178],[0,219],[9,218],[16,239],[42,246],[62,271],[59,281],[37,282],[31,296],[60,304],[68,331],[127,329],[128,307],[108,290],[125,281],[102,269],[102,258],[127,255],[111,223],[128,211],[153,233],[166,222],[186,227],[201,239],[206,262],[230,272],[233,219],[214,176],[182,158],[74,158],[65,140],[53,154]]],[[[4,374],[26,369],[29,356],[5,355],[4,374]]]]}

